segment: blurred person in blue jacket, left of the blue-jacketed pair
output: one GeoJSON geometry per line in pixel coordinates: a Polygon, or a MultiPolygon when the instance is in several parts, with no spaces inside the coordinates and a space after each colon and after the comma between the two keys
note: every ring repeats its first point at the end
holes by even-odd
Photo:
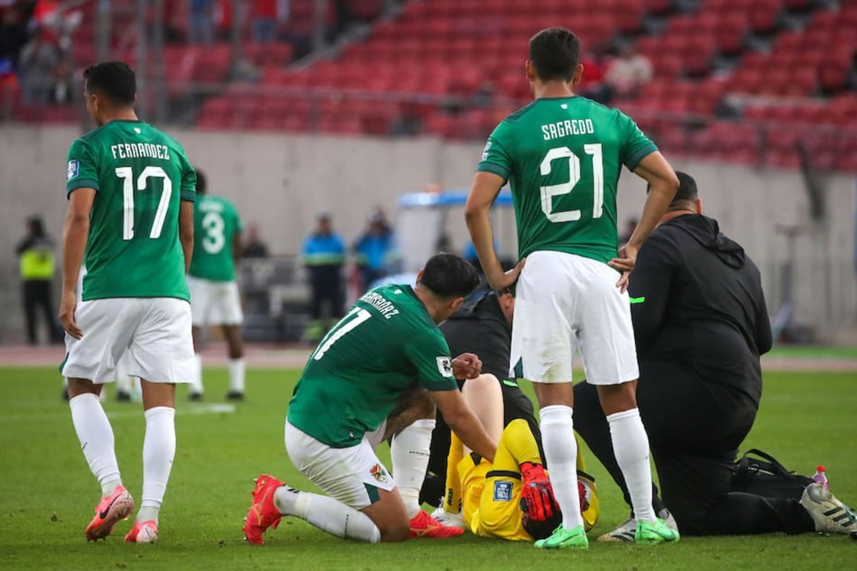
{"type": "Polygon", "coordinates": [[[306,342],[316,343],[321,341],[325,331],[342,317],[345,305],[345,283],[342,276],[345,243],[333,232],[331,218],[327,212],[322,212],[316,218],[315,231],[303,242],[301,261],[309,271],[309,314],[312,318],[303,337],[306,342]]]}

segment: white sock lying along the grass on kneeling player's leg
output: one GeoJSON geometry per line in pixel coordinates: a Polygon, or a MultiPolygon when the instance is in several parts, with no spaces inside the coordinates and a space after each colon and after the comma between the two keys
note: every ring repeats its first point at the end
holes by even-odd
{"type": "Polygon", "coordinates": [[[274,492],[273,503],[280,514],[293,515],[338,538],[368,541],[370,544],[381,541],[381,531],[369,515],[332,497],[292,490],[284,485],[274,492]]]}

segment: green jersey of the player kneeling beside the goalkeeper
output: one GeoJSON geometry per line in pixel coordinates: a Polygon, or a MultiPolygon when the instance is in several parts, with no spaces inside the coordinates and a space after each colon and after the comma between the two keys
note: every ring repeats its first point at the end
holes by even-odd
{"type": "Polygon", "coordinates": [[[321,340],[289,404],[289,422],[333,448],[360,443],[413,386],[458,390],[449,347],[406,285],[375,288],[321,340]]]}

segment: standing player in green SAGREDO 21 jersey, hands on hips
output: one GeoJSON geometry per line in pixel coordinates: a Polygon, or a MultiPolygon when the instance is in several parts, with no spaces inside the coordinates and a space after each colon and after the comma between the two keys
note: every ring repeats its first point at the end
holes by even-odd
{"type": "Polygon", "coordinates": [[[550,479],[563,514],[563,525],[536,542],[542,549],[589,545],[578,503],[572,424],[572,358],[578,349],[586,379],[597,385],[607,414],[638,521],[637,541],[678,539],[651,507],[649,442],[637,409],[637,355],[626,288],[639,247],[679,181],[631,119],[574,94],[583,74],[579,56],[580,43],[566,29],[549,28],[530,39],[526,75],[535,101],[494,129],[465,207],[491,287],[518,280],[510,365],[519,378],[533,382],[550,479]],[[617,251],[622,164],[648,181],[651,191],[637,229],[617,251]],[[504,274],[492,246],[488,208],[507,181],[521,262],[504,274]]]}

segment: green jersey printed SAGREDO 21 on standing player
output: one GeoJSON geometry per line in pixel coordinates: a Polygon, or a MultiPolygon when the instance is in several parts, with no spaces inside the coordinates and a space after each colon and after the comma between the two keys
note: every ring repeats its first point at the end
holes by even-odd
{"type": "Polygon", "coordinates": [[[616,186],[657,147],[620,110],[582,97],[540,98],[488,138],[477,170],[512,187],[518,255],[616,257],[616,186]]]}

